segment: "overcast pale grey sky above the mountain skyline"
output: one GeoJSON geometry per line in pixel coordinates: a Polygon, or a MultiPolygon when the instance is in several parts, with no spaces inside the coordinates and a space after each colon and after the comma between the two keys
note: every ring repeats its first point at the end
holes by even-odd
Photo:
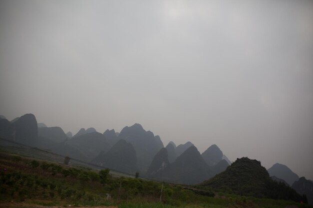
{"type": "Polygon", "coordinates": [[[313,1],[0,0],[0,114],[313,179],[313,1]]]}

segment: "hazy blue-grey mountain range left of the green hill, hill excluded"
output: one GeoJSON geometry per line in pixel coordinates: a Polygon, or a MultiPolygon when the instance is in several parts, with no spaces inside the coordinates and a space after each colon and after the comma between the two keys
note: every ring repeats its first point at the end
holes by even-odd
{"type": "Polygon", "coordinates": [[[80,128],[72,136],[71,132],[65,134],[60,127],[38,125],[34,115],[26,114],[13,123],[3,117],[0,120],[0,136],[93,162],[103,168],[129,174],[139,172],[148,178],[173,183],[199,183],[228,166],[216,145],[205,151],[207,155],[201,155],[191,142],[178,146],[169,142],[164,148],[160,137],[144,130],[140,124],[126,126],[119,134],[114,129],[107,129],[101,134],[92,127],[80,128]],[[213,162],[205,162],[209,158],[213,162]]]}

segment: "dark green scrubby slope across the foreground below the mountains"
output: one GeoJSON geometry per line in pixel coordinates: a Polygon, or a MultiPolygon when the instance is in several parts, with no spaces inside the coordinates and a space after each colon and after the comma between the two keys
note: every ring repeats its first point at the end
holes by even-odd
{"type": "Polygon", "coordinates": [[[284,208],[295,202],[213,193],[182,185],[112,177],[108,170],[72,167],[0,152],[0,202],[118,208],[284,208]],[[162,190],[162,196],[160,200],[162,190]],[[107,197],[108,195],[109,197],[107,197]]]}

